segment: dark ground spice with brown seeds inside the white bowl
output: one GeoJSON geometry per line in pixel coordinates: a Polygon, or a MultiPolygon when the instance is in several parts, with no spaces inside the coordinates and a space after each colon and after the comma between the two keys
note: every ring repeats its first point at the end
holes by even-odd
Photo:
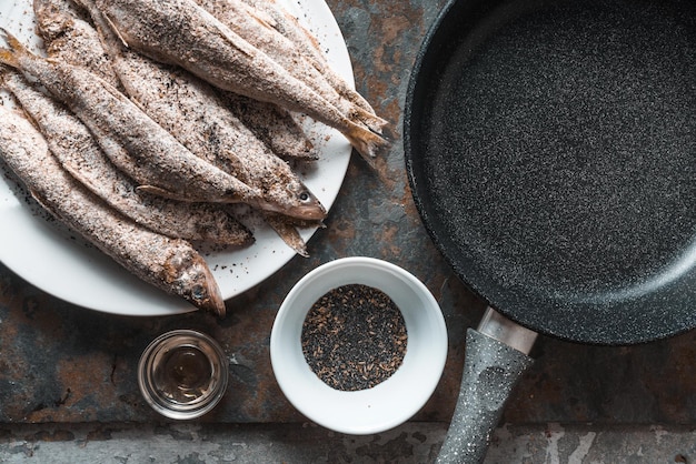
{"type": "Polygon", "coordinates": [[[380,290],[350,284],[332,289],[309,310],[302,353],[312,372],[341,391],[371,389],[401,365],[404,316],[380,290]]]}

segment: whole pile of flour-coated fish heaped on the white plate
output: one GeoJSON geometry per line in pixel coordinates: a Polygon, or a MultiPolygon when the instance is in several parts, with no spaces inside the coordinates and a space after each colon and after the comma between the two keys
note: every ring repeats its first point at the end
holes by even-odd
{"type": "Polygon", "coordinates": [[[294,114],[371,160],[386,121],[275,0],[34,0],[46,57],[1,30],[0,158],[34,199],[142,280],[218,315],[191,243],[243,246],[251,208],[298,253],[327,212],[292,169],[294,114]]]}

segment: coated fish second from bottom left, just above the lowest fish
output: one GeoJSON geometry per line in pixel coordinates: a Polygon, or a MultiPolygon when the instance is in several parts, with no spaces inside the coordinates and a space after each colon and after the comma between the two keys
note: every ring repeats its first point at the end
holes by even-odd
{"type": "Polygon", "coordinates": [[[138,192],[103,154],[87,127],[64,107],[16,72],[0,74],[0,81],[36,122],[63,169],[121,214],[171,238],[226,245],[253,240],[249,230],[219,204],[179,202],[138,192]]]}

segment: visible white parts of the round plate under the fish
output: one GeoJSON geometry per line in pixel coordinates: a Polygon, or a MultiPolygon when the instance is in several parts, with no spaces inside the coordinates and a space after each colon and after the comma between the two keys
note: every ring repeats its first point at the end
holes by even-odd
{"type": "MultiPolygon", "coordinates": [[[[319,39],[334,69],[354,83],[346,43],[324,0],[281,0],[319,39]]],[[[0,26],[20,40],[37,47],[31,0],[0,2],[0,26]]],[[[4,104],[11,104],[7,98],[4,104]]],[[[308,125],[320,160],[302,172],[307,186],[329,209],[344,181],[351,148],[337,131],[321,124],[308,125]]],[[[0,175],[0,261],[39,289],[88,309],[126,315],[166,315],[195,307],[152,288],[116,264],[74,234],[47,221],[21,193],[0,175]]],[[[316,229],[301,231],[305,240],[316,229]]],[[[205,252],[205,258],[227,300],[262,282],[295,252],[268,226],[253,230],[256,243],[241,250],[205,252]]]]}

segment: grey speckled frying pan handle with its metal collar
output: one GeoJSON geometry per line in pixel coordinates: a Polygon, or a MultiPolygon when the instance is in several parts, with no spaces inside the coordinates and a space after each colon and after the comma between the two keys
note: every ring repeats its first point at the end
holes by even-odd
{"type": "Polygon", "coordinates": [[[437,463],[484,461],[490,434],[500,420],[508,396],[533,363],[526,353],[535,339],[535,332],[506,320],[491,309],[478,331],[468,330],[459,397],[437,463]]]}

